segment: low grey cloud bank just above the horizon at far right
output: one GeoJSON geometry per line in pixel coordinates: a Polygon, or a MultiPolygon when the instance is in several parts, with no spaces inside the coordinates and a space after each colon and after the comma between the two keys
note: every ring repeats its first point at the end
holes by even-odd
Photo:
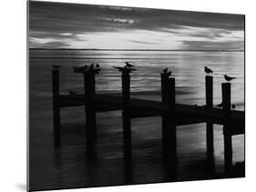
{"type": "Polygon", "coordinates": [[[182,41],[182,48],[187,50],[243,50],[244,41],[182,41]]]}

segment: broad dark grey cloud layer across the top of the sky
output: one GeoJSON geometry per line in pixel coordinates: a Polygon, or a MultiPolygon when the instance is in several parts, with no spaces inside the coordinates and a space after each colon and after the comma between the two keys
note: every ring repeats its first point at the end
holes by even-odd
{"type": "Polygon", "coordinates": [[[127,29],[179,29],[184,26],[243,30],[244,15],[46,2],[29,3],[30,31],[78,34],[127,29]],[[119,22],[115,20],[116,18],[133,22],[119,22]]]}

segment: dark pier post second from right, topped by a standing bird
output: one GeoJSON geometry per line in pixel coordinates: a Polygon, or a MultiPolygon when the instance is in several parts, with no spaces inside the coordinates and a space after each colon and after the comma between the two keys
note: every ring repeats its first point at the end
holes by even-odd
{"type": "MultiPolygon", "coordinates": [[[[205,95],[206,95],[206,107],[212,109],[213,106],[213,77],[205,76],[205,95]]],[[[206,145],[207,145],[207,158],[211,162],[213,158],[213,124],[210,121],[206,122],[206,145]]]]}

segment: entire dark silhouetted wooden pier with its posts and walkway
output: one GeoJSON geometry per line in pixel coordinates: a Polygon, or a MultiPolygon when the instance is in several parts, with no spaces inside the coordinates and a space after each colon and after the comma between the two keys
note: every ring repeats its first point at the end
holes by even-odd
{"type": "MultiPolygon", "coordinates": [[[[206,123],[207,157],[212,159],[213,125],[223,126],[225,169],[232,166],[232,136],[244,134],[245,115],[243,111],[231,110],[230,83],[222,83],[222,108],[213,107],[213,77],[205,76],[206,105],[183,105],[175,101],[175,78],[161,74],[161,101],[152,101],[130,97],[131,70],[120,70],[122,92],[119,95],[98,95],[95,91],[95,76],[99,69],[82,72],[84,76],[85,94],[60,95],[59,70],[52,70],[54,135],[58,140],[61,132],[60,108],[69,106],[85,106],[87,148],[92,148],[97,139],[96,113],[122,110],[124,157],[130,159],[131,119],[148,116],[162,117],[162,148],[163,156],[170,165],[176,167],[177,160],[177,126],[206,123]]],[[[172,167],[172,168],[173,168],[172,167]]]]}

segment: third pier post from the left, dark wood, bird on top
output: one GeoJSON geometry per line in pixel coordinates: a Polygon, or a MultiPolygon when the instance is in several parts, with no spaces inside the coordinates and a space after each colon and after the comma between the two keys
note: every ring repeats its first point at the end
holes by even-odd
{"type": "Polygon", "coordinates": [[[122,71],[122,103],[123,103],[123,138],[125,160],[131,157],[131,129],[130,129],[130,75],[128,70],[122,71]]]}

